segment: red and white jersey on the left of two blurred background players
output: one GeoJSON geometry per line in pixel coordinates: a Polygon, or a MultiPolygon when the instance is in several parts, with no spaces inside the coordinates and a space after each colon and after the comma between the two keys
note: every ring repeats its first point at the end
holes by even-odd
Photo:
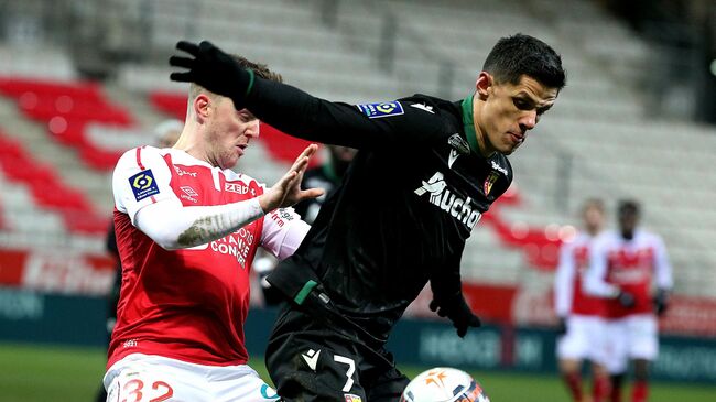
{"type": "Polygon", "coordinates": [[[594,237],[581,232],[560,249],[560,263],[554,276],[554,308],[560,317],[571,314],[605,314],[605,301],[585,293],[584,275],[589,268],[594,237]]]}

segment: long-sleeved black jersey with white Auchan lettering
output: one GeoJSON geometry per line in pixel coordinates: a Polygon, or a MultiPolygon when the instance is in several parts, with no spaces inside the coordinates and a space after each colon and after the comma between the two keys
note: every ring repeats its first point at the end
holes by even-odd
{"type": "Polygon", "coordinates": [[[428,280],[436,294],[459,292],[465,242],[512,181],[505,155],[478,152],[473,97],[349,105],[272,82],[256,86],[247,107],[261,120],[359,150],[269,282],[294,298],[310,279],[300,272],[310,270],[336,308],[379,339],[428,280]]]}

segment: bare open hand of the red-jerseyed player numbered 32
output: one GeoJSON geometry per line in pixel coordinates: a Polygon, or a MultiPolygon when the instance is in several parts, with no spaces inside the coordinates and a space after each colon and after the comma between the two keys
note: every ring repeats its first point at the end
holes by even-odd
{"type": "Polygon", "coordinates": [[[306,146],[283,177],[259,196],[259,205],[265,213],[323,195],[322,188],[301,189],[301,181],[308,166],[308,160],[317,150],[316,144],[306,146]]]}

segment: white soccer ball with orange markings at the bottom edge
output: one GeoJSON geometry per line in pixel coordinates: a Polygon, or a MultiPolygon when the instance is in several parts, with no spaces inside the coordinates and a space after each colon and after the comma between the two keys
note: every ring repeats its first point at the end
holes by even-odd
{"type": "Polygon", "coordinates": [[[405,387],[400,401],[490,402],[473,376],[449,367],[436,367],[417,374],[405,387]]]}

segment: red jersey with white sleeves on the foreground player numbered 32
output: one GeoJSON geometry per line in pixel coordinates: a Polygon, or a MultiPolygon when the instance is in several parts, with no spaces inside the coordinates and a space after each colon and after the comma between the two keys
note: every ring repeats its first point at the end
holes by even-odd
{"type": "Polygon", "coordinates": [[[276,209],[221,239],[166,250],[134,226],[141,208],[167,199],[183,207],[225,205],[259,196],[263,186],[183,151],[151,146],[119,160],[112,186],[122,285],[107,367],[134,352],[246,363],[243,322],[257,247],[285,258],[294,248],[288,252],[284,239],[297,236],[297,247],[308,226],[291,208],[276,209]]]}

